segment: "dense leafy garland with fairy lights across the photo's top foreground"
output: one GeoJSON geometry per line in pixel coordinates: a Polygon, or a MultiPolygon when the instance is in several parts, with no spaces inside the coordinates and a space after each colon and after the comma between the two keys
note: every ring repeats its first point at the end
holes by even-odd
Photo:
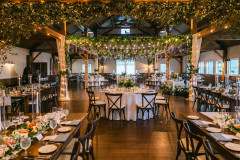
{"type": "Polygon", "coordinates": [[[0,39],[16,43],[37,31],[34,27],[52,27],[61,21],[88,26],[99,16],[124,15],[154,22],[157,28],[189,23],[191,18],[240,32],[239,0],[207,0],[191,2],[100,1],[64,2],[0,2],[0,39]]]}

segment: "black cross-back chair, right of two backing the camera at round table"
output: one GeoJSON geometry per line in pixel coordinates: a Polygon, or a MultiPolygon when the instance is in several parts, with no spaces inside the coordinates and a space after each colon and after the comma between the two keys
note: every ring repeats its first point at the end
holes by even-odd
{"type": "Polygon", "coordinates": [[[142,104],[137,104],[137,118],[136,122],[138,120],[138,113],[139,111],[142,112],[142,121],[144,120],[144,113],[148,112],[148,119],[149,119],[149,111],[151,110],[153,113],[153,116],[155,116],[155,100],[157,96],[157,92],[154,93],[142,93],[142,104]]]}

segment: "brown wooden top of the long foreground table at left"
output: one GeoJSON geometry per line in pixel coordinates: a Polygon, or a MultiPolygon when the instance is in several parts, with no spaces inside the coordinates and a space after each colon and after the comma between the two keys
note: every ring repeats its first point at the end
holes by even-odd
{"type": "MultiPolygon", "coordinates": [[[[29,117],[31,117],[31,114],[27,114],[27,115],[30,115],[29,117]]],[[[87,113],[69,113],[69,115],[67,116],[67,119],[83,121],[86,117],[87,117],[87,113]]],[[[55,144],[57,146],[57,150],[54,153],[48,154],[48,155],[51,155],[51,158],[50,158],[51,160],[55,160],[59,157],[59,155],[67,147],[67,145],[71,141],[71,139],[74,138],[74,136],[76,136],[77,133],[80,131],[81,126],[82,126],[82,123],[80,123],[78,126],[68,126],[71,128],[71,131],[68,133],[65,133],[65,134],[69,135],[66,142],[64,142],[64,143],[49,142],[49,144],[55,144]]],[[[59,125],[57,126],[57,128],[55,128],[55,131],[57,131],[58,128],[59,128],[59,125]]],[[[47,130],[47,133],[43,134],[43,137],[51,135],[51,133],[52,133],[52,129],[49,129],[49,130],[47,130]]],[[[32,159],[34,159],[34,157],[39,156],[38,149],[44,145],[46,145],[46,141],[43,141],[43,140],[37,141],[37,142],[32,141],[31,147],[29,147],[27,149],[27,152],[29,154],[28,156],[33,156],[32,159]]],[[[24,159],[24,157],[22,156],[23,152],[24,152],[24,150],[20,151],[17,154],[18,155],[18,157],[16,158],[17,160],[24,159]]]]}

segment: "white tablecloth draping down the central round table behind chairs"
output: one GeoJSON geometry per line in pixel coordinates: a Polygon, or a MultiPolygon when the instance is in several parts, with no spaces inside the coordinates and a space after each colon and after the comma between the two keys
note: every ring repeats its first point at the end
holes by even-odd
{"type": "MultiPolygon", "coordinates": [[[[152,97],[148,97],[150,100],[152,97]]],[[[108,116],[108,101],[107,101],[107,96],[105,95],[104,92],[100,91],[100,99],[101,101],[106,102],[106,115],[108,116]]],[[[125,117],[127,121],[133,120],[136,121],[137,118],[137,108],[136,108],[136,104],[142,104],[142,95],[141,93],[123,93],[122,95],[122,105],[125,105],[125,117]]],[[[101,110],[101,117],[104,117],[104,111],[101,110]]],[[[108,117],[107,117],[108,118],[108,117]]],[[[112,119],[112,114],[110,114],[110,119],[112,119]]],[[[142,118],[142,113],[141,111],[139,111],[138,114],[138,119],[142,118]]],[[[148,118],[148,113],[145,112],[144,113],[144,119],[148,118]]],[[[153,118],[153,113],[150,111],[149,112],[149,118],[153,118]]],[[[114,112],[113,115],[113,119],[114,120],[120,120],[119,118],[119,113],[118,112],[114,112]]],[[[122,120],[123,120],[123,114],[122,114],[122,120]]]]}

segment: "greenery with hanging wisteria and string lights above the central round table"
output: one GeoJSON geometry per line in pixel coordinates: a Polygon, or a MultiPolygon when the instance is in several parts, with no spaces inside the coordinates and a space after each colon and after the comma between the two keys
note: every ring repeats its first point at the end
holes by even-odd
{"type": "Polygon", "coordinates": [[[88,53],[99,58],[137,59],[154,58],[155,55],[169,53],[186,53],[189,36],[168,36],[156,38],[115,38],[115,37],[67,37],[66,47],[70,53],[88,53]],[[168,45],[166,45],[168,44],[168,45]],[[166,46],[168,46],[166,48],[166,46]]]}

